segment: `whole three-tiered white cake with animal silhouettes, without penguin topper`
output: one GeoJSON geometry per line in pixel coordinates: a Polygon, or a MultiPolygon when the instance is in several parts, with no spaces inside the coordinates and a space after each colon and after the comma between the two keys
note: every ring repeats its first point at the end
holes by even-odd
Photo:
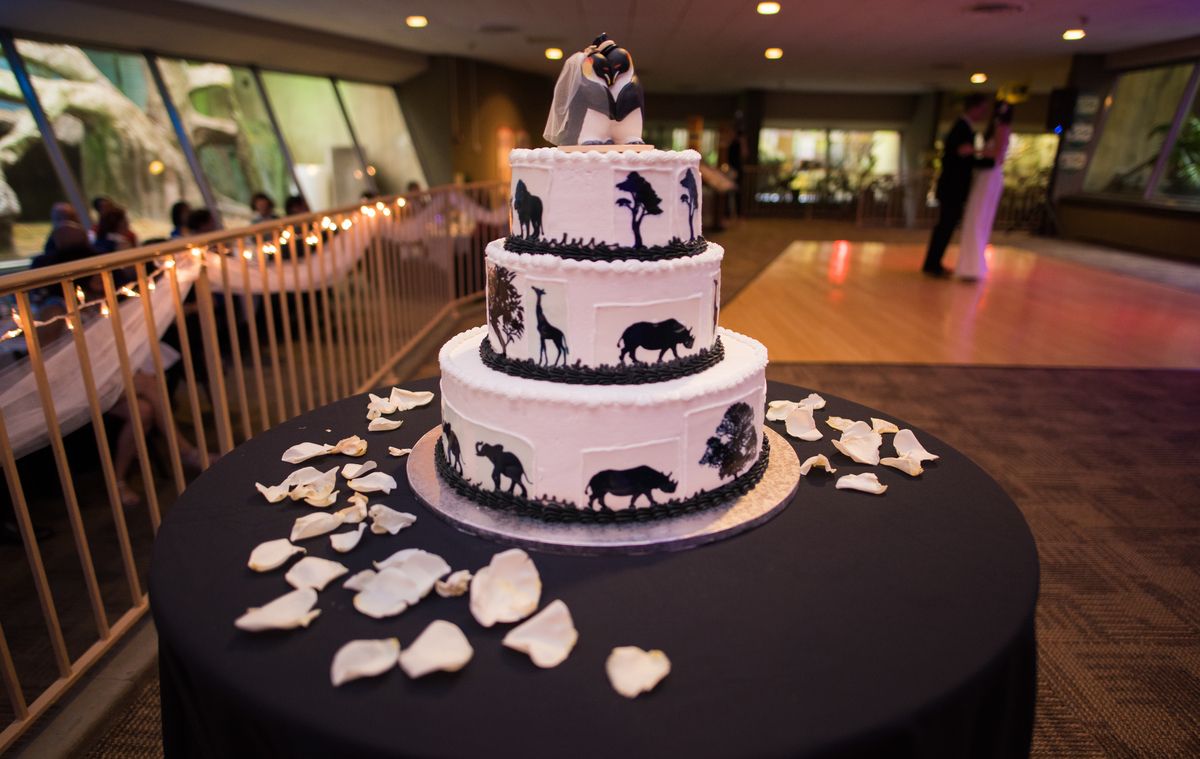
{"type": "Polygon", "coordinates": [[[602,522],[689,513],[757,482],[767,351],[716,327],[724,251],[700,234],[698,162],[512,151],[487,324],[439,355],[436,455],[458,492],[602,522]]]}

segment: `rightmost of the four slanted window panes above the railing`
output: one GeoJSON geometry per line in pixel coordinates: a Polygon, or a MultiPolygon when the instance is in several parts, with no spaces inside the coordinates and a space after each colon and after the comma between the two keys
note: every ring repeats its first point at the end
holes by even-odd
{"type": "Polygon", "coordinates": [[[361,82],[338,82],[337,89],[366,156],[367,172],[374,172],[379,192],[404,192],[410,181],[427,186],[396,91],[361,82]]]}

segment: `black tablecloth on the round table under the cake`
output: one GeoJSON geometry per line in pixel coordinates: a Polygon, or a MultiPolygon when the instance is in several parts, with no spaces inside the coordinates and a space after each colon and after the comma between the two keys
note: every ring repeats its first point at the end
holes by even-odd
{"type": "MultiPolygon", "coordinates": [[[[408,386],[437,389],[433,381],[408,386]]],[[[770,399],[809,390],[772,383],[770,399]]],[[[824,394],[826,414],[888,414],[824,394]]],[[[310,556],[350,572],[401,548],[442,555],[455,569],[500,550],[468,537],[416,501],[404,460],[439,422],[437,401],[402,414],[392,432],[366,432],[365,396],[298,417],[235,449],[168,514],[155,544],[150,600],[160,639],[163,742],[169,757],[1010,757],[1028,752],[1036,694],[1033,609],[1038,563],[1028,527],[979,467],[917,430],[941,454],[918,479],[850,464],[830,435],[796,441],[824,452],[838,476],[875,471],[884,496],[804,478],[792,504],[766,525],[703,548],[650,556],[533,552],[542,603],[562,598],[580,643],[557,669],[504,649],[509,626],[484,629],[466,598],[431,594],[398,617],[353,609],[337,580],[322,591],[308,629],[245,633],[248,606],[290,590],[283,570],[246,568],[251,549],[287,537],[304,506],[268,504],[254,482],[294,467],[301,442],[359,434],[367,459],[400,489],[371,501],[413,512],[415,526],[370,531],[347,555],[323,538],[310,556]],[[396,669],[340,688],[334,652],[356,638],[410,643],[434,618],[458,624],[475,649],[455,675],[412,681],[396,669]],[[613,646],[662,649],[673,670],[626,700],[608,685],[613,646]]],[[[896,419],[904,426],[904,423],[896,419]]],[[[781,425],[775,424],[776,429],[781,425]]],[[[884,441],[890,453],[890,438],[884,441]]],[[[310,464],[328,468],[344,456],[310,464]]],[[[361,459],[359,459],[361,461],[361,459]]],[[[343,488],[340,504],[349,491],[343,488]]]]}

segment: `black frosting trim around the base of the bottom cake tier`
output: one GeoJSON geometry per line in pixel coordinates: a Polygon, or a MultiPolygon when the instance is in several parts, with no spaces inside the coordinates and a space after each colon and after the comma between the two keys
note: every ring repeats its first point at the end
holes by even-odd
{"type": "Polygon", "coordinates": [[[482,507],[508,514],[516,514],[517,516],[528,516],[547,522],[581,525],[619,525],[655,521],[672,516],[683,516],[684,514],[695,514],[696,512],[726,504],[733,498],[754,490],[767,471],[769,458],[770,443],[767,436],[763,435],[762,453],[754,466],[746,470],[744,474],[733,478],[720,488],[701,491],[690,498],[671,500],[647,508],[628,508],[617,512],[610,508],[596,510],[581,509],[570,501],[559,501],[558,498],[523,498],[498,490],[481,490],[472,485],[470,482],[450,466],[450,462],[445,458],[445,450],[442,447],[440,436],[438,436],[438,442],[433,447],[433,462],[437,466],[438,476],[442,477],[442,482],[458,495],[470,498],[482,507]]]}

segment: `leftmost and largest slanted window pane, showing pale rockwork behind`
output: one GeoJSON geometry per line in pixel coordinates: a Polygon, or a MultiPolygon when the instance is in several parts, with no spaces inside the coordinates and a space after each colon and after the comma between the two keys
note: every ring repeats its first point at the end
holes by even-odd
{"type": "Polygon", "coordinates": [[[140,240],[170,234],[175,201],[203,205],[145,58],[28,40],[17,50],[89,199],[124,205],[140,240]]]}

